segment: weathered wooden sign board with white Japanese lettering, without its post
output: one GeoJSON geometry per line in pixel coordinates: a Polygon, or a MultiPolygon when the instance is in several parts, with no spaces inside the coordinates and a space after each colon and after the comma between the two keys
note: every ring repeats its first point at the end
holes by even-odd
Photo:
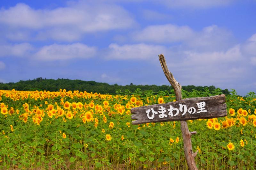
{"type": "Polygon", "coordinates": [[[227,116],[225,95],[197,97],[131,109],[133,125],[149,122],[186,121],[227,116]]]}

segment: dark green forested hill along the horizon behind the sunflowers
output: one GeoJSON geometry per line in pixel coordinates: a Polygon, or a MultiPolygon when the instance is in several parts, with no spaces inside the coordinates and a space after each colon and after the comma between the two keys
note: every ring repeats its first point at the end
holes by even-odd
{"type": "MultiPolygon", "coordinates": [[[[191,92],[193,89],[198,91],[203,91],[207,86],[182,86],[183,90],[191,92]]],[[[109,85],[108,83],[98,83],[95,81],[82,81],[82,80],[69,80],[69,79],[43,79],[36,78],[34,80],[22,81],[20,80],[17,83],[0,83],[0,90],[23,90],[23,91],[35,91],[35,90],[46,90],[46,91],[59,91],[60,89],[66,90],[79,90],[79,91],[87,91],[87,92],[98,92],[101,94],[116,94],[117,90],[121,90],[124,92],[125,90],[129,90],[130,92],[134,92],[135,89],[141,89],[142,91],[152,90],[153,92],[159,91],[170,91],[172,90],[172,86],[169,85],[109,85]]],[[[208,87],[210,91],[214,91],[216,88],[214,86],[208,87]]],[[[222,90],[223,94],[229,94],[228,89],[222,90]]]]}

